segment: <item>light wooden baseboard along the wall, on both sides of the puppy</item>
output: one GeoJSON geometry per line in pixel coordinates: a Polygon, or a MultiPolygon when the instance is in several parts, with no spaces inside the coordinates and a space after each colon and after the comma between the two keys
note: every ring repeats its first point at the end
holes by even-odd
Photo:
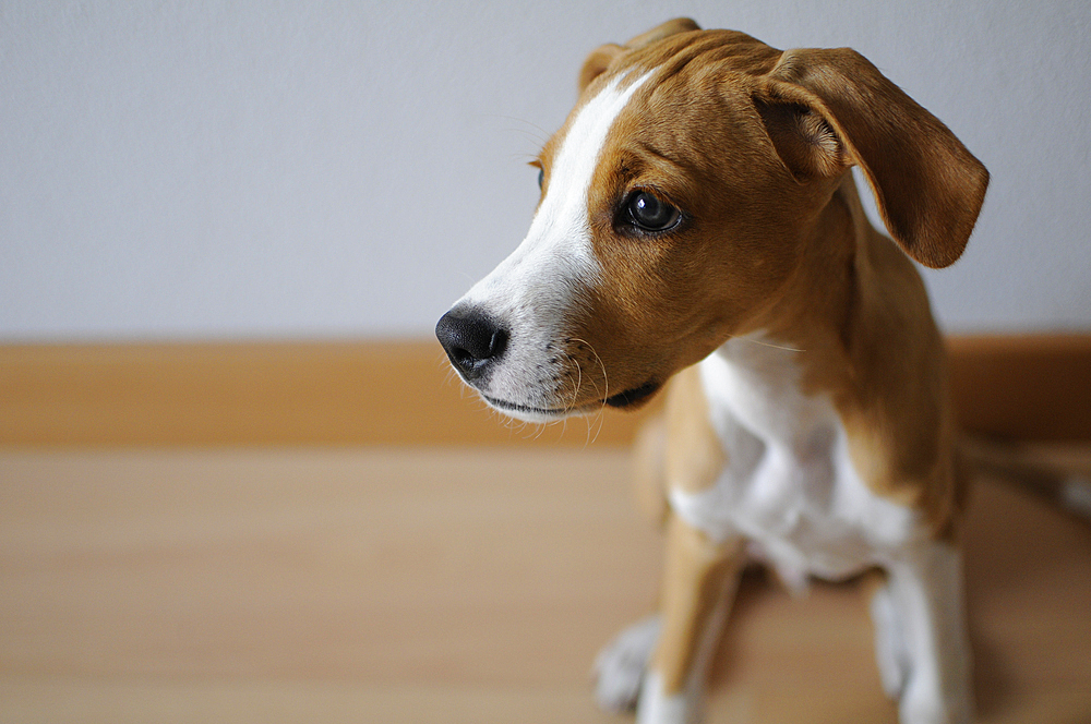
{"type": "MultiPolygon", "coordinates": [[[[1091,441],[1091,335],[954,337],[967,429],[1091,441]]],[[[0,445],[628,443],[647,412],[547,427],[489,412],[429,341],[0,346],[0,445]]]]}

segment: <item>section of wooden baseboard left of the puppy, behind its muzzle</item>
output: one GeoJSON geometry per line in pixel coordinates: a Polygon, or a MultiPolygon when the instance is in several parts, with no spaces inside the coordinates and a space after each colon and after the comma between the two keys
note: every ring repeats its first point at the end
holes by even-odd
{"type": "Polygon", "coordinates": [[[584,445],[634,427],[512,425],[430,341],[0,346],[8,446],[584,445]]]}

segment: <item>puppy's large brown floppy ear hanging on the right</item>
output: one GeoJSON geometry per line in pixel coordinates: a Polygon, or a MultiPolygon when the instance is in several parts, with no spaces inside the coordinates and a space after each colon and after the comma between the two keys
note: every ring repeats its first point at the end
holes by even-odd
{"type": "Polygon", "coordinates": [[[796,178],[864,171],[895,240],[940,268],[966,249],[988,185],[985,167],[939,119],[848,48],[789,50],[754,95],[796,178]]]}

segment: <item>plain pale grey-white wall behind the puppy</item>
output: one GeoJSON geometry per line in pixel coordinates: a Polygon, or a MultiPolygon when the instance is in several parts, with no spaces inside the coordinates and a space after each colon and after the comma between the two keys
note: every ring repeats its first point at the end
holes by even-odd
{"type": "Polygon", "coordinates": [[[2,0],[0,341],[427,335],[586,52],[680,14],[852,46],[986,164],[948,328],[1091,328],[1086,0],[2,0]]]}

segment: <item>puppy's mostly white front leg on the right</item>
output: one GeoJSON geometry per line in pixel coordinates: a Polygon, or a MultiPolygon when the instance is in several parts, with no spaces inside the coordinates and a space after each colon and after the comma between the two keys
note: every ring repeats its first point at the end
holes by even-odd
{"type": "Polygon", "coordinates": [[[968,724],[973,696],[958,548],[922,543],[886,569],[872,612],[880,669],[887,661],[884,684],[889,693],[900,689],[901,724],[968,724]]]}

